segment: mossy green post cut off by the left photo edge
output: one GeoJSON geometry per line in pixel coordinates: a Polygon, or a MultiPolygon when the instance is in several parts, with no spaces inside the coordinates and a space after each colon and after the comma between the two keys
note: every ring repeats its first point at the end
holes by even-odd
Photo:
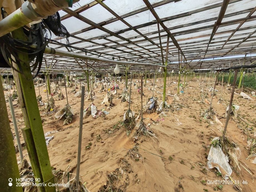
{"type": "Polygon", "coordinates": [[[0,186],[1,191],[22,192],[22,187],[16,186],[16,178],[19,179],[19,168],[13,145],[13,135],[9,123],[2,78],[0,78],[0,186]]]}

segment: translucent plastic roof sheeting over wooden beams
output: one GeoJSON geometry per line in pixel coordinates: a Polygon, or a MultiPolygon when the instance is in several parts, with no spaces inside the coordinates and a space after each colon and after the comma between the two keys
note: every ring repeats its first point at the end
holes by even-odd
{"type": "MultiPolygon", "coordinates": [[[[227,61],[239,65],[236,55],[255,54],[255,6],[256,0],[80,0],[59,13],[75,53],[153,64],[162,63],[163,53],[174,67],[182,55],[183,61],[191,61],[191,68],[208,68],[227,61]]],[[[52,35],[51,39],[55,41],[50,47],[67,51],[65,38],[52,35]]],[[[50,64],[53,56],[45,58],[50,64]]],[[[56,68],[65,62],[80,68],[73,59],[55,59],[56,68]]],[[[110,65],[94,63],[96,68],[110,65]]],[[[149,70],[155,71],[154,67],[149,70]]]]}

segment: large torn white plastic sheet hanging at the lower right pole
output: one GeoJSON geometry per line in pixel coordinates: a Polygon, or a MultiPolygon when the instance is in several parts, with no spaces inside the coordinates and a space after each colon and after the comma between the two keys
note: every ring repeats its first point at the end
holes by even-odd
{"type": "Polygon", "coordinates": [[[215,137],[211,143],[215,143],[211,145],[211,149],[208,154],[208,168],[216,168],[222,174],[223,178],[227,180],[232,173],[232,169],[228,164],[228,157],[225,156],[223,151],[219,146],[220,137],[215,137]]]}

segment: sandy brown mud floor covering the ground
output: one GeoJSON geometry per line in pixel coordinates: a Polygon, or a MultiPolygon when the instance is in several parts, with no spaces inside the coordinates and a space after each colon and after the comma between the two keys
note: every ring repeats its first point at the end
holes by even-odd
{"type": "MultiPolygon", "coordinates": [[[[174,81],[174,80],[173,80],[174,81]]],[[[176,84],[168,80],[166,91],[174,95],[176,84]]],[[[136,80],[135,80],[136,82],[136,80]]],[[[153,86],[148,80],[143,87],[143,105],[152,96],[153,86]],[[151,90],[148,90],[148,88],[151,90]]],[[[213,81],[210,81],[212,85],[213,81]]],[[[139,84],[139,83],[137,83],[139,84]]],[[[179,94],[179,101],[174,101],[173,96],[167,95],[168,105],[172,104],[169,111],[161,114],[143,114],[144,122],[150,124],[150,129],[156,134],[154,137],[141,136],[134,142],[133,129],[127,137],[124,127],[121,125],[123,115],[128,109],[128,102],[120,103],[117,99],[122,93],[124,84],[120,83],[120,90],[114,95],[113,107],[101,104],[107,92],[99,93],[95,88],[97,99],[93,102],[100,110],[105,108],[110,114],[94,119],[91,115],[83,120],[82,152],[80,175],[82,182],[91,192],[104,191],[104,187],[120,189],[120,191],[237,191],[233,184],[208,184],[208,181],[222,181],[216,169],[208,169],[207,156],[214,137],[222,135],[223,118],[230,100],[231,88],[224,84],[222,91],[223,101],[217,104],[220,98],[221,85],[216,85],[216,96],[213,98],[213,109],[223,125],[210,124],[208,120],[200,116],[201,112],[209,108],[209,104],[201,102],[200,78],[188,82],[184,93],[179,94]],[[90,147],[87,147],[90,146],[90,147]],[[111,183],[111,186],[109,184],[111,183]],[[220,189],[222,187],[222,189],[220,189]]],[[[78,87],[80,85],[78,84],[78,87]]],[[[40,87],[43,102],[47,101],[45,87],[40,87]]],[[[38,95],[38,88],[35,88],[38,95]]],[[[72,88],[67,88],[70,92],[72,88]]],[[[79,89],[77,89],[78,91],[79,89]]],[[[158,79],[154,89],[154,96],[158,101],[162,100],[163,81],[158,79]]],[[[62,87],[65,95],[65,88],[62,87]]],[[[235,89],[240,93],[241,89],[235,89]]],[[[206,92],[205,92],[206,93],[206,92]]],[[[246,92],[249,94],[248,92],[246,92]]],[[[211,92],[207,93],[210,101],[211,92]]],[[[65,95],[66,97],[66,95],[65,95]]],[[[251,96],[252,97],[252,96],[251,96]]],[[[56,120],[55,113],[66,104],[66,99],[55,101],[55,111],[44,113],[44,106],[39,106],[44,132],[58,131],[50,136],[54,138],[48,145],[48,153],[51,166],[56,169],[69,171],[71,178],[75,176],[77,165],[78,132],[80,116],[80,97],[74,97],[74,93],[68,93],[68,100],[73,108],[75,117],[70,125],[63,126],[63,120],[56,120]]],[[[132,86],[131,109],[139,115],[141,98],[136,86],[132,86]]],[[[24,120],[19,105],[15,105],[16,119],[18,121],[21,143],[24,142],[20,128],[24,127],[24,120]]],[[[239,117],[231,117],[227,127],[227,137],[237,143],[239,150],[237,156],[242,164],[241,170],[234,169],[231,177],[239,181],[242,191],[256,191],[256,165],[251,163],[255,158],[248,157],[247,139],[256,136],[256,98],[252,101],[239,98],[234,95],[233,103],[240,106],[239,117]],[[237,171],[236,171],[237,170],[237,171]],[[247,184],[241,183],[243,180],[247,184]]],[[[85,101],[85,108],[90,101],[85,101]]],[[[9,119],[11,113],[7,103],[9,119]]],[[[140,118],[137,120],[139,122],[140,118]]],[[[136,122],[136,123],[137,123],[136,122]]],[[[11,129],[14,133],[13,123],[11,129]]],[[[16,142],[16,141],[15,141],[16,142]]],[[[15,143],[16,144],[16,143],[15,143]]],[[[26,148],[23,147],[24,158],[29,161],[26,148]]],[[[16,154],[19,161],[19,153],[16,154]]],[[[111,190],[110,190],[111,191],[111,190]]]]}

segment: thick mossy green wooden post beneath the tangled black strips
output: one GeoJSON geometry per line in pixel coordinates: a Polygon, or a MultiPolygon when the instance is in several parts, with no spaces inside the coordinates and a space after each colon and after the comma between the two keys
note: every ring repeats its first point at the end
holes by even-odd
{"type": "MultiPolygon", "coordinates": [[[[24,41],[27,40],[22,28],[13,31],[12,35],[13,38],[24,41]]],[[[18,53],[18,56],[23,61],[29,60],[27,54],[18,53]]],[[[19,66],[14,64],[14,67],[23,72],[18,73],[13,70],[17,84],[19,102],[21,105],[24,122],[27,127],[25,131],[23,129],[23,137],[26,147],[31,149],[28,150],[28,154],[33,173],[35,178],[40,179],[40,183],[44,183],[46,185],[38,187],[41,192],[55,192],[55,187],[49,185],[50,183],[54,184],[54,178],[45,143],[43,125],[37,105],[31,68],[29,63],[24,62],[20,62],[19,66]],[[27,129],[29,129],[29,133],[28,131],[26,132],[27,129]]]]}

